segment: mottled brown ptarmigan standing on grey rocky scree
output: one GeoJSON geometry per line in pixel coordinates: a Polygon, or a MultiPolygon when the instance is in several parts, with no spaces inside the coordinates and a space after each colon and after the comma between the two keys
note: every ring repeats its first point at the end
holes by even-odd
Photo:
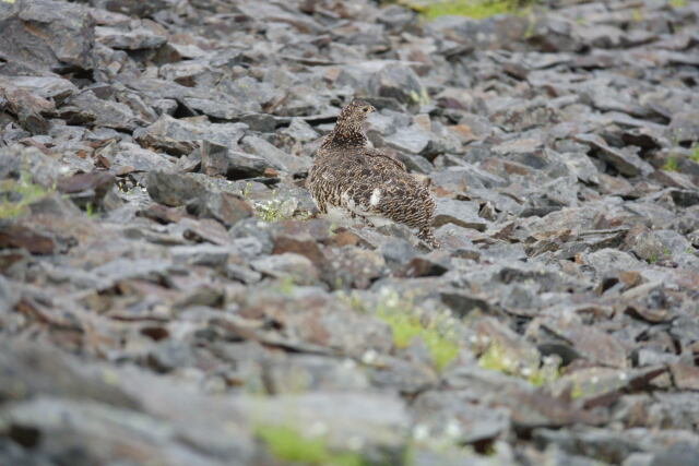
{"type": "Polygon", "coordinates": [[[325,214],[342,207],[378,225],[387,219],[417,228],[417,237],[438,248],[433,231],[435,200],[405,165],[369,145],[363,123],[375,108],[353,100],[337,117],[335,128],[316,153],[308,189],[325,214]]]}

